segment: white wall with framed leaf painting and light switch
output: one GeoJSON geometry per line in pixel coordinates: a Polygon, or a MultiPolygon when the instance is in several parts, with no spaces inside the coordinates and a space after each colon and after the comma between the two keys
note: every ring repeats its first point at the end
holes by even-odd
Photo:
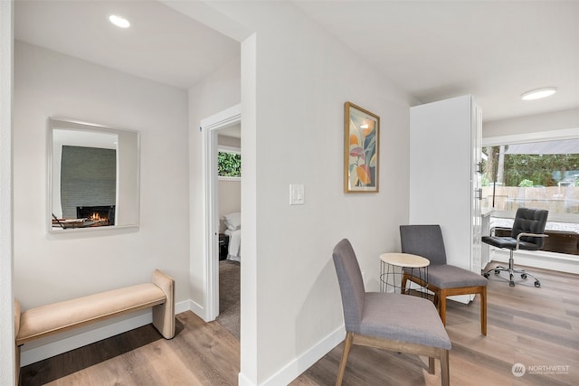
{"type": "MultiPolygon", "coordinates": [[[[255,123],[245,115],[252,101],[242,99],[242,212],[256,205],[255,253],[243,249],[252,247],[244,233],[242,256],[256,282],[242,273],[240,380],[280,384],[303,371],[308,363],[301,359],[343,323],[331,260],[337,241],[353,242],[371,290],[378,289],[378,255],[400,248],[398,226],[408,219],[409,103],[289,2],[214,6],[256,32],[257,82],[242,89],[244,96],[256,93],[255,123]],[[343,193],[347,100],[381,117],[380,193],[343,193]],[[305,185],[304,205],[289,206],[289,184],[305,185]],[[255,202],[243,194],[252,191],[255,202]]],[[[242,58],[251,53],[242,45],[242,58]]]]}

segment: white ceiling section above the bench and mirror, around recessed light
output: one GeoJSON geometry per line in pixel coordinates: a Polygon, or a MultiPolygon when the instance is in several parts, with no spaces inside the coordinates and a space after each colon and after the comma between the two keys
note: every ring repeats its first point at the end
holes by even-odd
{"type": "Polygon", "coordinates": [[[240,43],[157,1],[16,0],[14,36],[187,89],[240,54],[240,43]],[[109,23],[126,17],[130,27],[109,23]]]}

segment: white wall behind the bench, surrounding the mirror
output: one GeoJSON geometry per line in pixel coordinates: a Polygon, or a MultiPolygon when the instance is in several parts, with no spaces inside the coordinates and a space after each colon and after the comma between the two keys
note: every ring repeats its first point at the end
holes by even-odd
{"type": "MultiPolygon", "coordinates": [[[[188,298],[187,92],[15,43],[14,296],[23,308],[150,280],[188,298]],[[141,134],[140,228],[47,235],[47,119],[141,134]]],[[[24,346],[25,347],[25,346],[24,346]]]]}

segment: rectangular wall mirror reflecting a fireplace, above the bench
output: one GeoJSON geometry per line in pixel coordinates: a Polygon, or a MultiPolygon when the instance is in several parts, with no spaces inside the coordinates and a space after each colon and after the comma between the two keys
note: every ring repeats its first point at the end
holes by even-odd
{"type": "Polygon", "coordinates": [[[51,118],[48,230],[138,227],[137,131],[51,118]]]}

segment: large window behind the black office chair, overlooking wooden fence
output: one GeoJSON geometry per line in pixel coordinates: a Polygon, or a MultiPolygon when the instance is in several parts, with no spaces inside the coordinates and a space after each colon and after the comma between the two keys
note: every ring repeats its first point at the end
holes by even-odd
{"type": "Polygon", "coordinates": [[[482,151],[481,207],[494,210],[491,227],[510,228],[517,209],[529,207],[549,211],[546,231],[579,232],[579,129],[485,138],[482,151]]]}

